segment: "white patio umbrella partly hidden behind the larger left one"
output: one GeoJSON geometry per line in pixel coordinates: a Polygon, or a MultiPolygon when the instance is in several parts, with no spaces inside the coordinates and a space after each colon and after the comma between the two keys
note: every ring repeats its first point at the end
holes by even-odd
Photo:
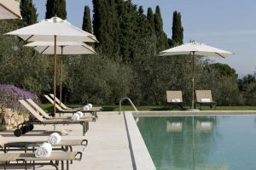
{"type": "MultiPolygon", "coordinates": [[[[57,42],[56,54],[61,55],[61,84],[60,101],[62,99],[62,68],[63,55],[68,54],[96,54],[96,51],[84,42],[57,42]]],[[[31,42],[25,45],[34,48],[40,54],[55,54],[54,42],[31,42]]]]}

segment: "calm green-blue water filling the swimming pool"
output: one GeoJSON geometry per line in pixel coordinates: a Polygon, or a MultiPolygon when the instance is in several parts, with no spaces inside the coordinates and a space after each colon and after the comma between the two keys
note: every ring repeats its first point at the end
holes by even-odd
{"type": "Polygon", "coordinates": [[[255,170],[256,116],[140,117],[157,170],[255,170]]]}

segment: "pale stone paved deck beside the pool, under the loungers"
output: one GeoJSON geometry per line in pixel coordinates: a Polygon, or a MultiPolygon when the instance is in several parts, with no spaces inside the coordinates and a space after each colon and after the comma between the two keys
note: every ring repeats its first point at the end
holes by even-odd
{"type": "MultiPolygon", "coordinates": [[[[88,139],[89,144],[83,152],[83,160],[75,161],[70,169],[86,170],[133,170],[131,146],[129,145],[128,131],[124,115],[117,112],[100,113],[96,122],[90,122],[90,129],[85,136],[81,136],[80,125],[57,125],[59,131],[67,131],[62,139],[88,139]]],[[[16,138],[12,131],[0,132],[8,141],[46,140],[48,131],[53,126],[36,126],[31,133],[16,138]]],[[[81,151],[82,147],[74,147],[74,151],[81,151]]],[[[148,150],[147,150],[148,151],[148,150]]],[[[54,169],[43,167],[39,169],[54,169]]]]}

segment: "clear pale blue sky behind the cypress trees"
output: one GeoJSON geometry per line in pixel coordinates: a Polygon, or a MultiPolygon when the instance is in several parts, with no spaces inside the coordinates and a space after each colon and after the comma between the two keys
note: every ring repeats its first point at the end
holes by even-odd
{"type": "MultiPolygon", "coordinates": [[[[82,27],[84,6],[91,0],[66,0],[67,20],[82,27]]],[[[239,76],[256,71],[256,1],[255,0],[132,0],[138,6],[160,6],[164,30],[172,37],[172,13],[182,14],[184,42],[194,40],[235,54],[226,59],[210,58],[230,65],[239,76]]],[[[44,19],[46,0],[33,0],[38,20],[44,19]]]]}

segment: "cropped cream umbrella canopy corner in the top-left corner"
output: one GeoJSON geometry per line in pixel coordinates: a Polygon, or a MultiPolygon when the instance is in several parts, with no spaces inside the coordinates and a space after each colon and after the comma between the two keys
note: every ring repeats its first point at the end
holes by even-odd
{"type": "Polygon", "coordinates": [[[0,20],[20,18],[20,0],[0,0],[0,20]]]}

